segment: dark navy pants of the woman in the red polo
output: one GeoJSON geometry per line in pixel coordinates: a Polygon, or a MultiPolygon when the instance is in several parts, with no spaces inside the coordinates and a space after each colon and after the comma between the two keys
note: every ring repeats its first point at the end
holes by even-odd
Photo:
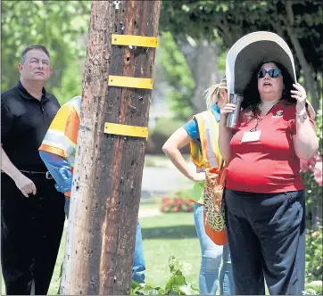
{"type": "Polygon", "coordinates": [[[226,190],[228,245],[236,295],[302,295],[305,196],[226,190]]]}

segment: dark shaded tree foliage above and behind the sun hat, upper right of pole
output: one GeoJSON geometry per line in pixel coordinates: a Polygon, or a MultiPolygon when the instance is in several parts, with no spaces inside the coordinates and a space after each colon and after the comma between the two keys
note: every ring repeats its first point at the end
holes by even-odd
{"type": "Polygon", "coordinates": [[[322,98],[323,31],[319,1],[163,1],[161,28],[177,42],[184,37],[218,40],[228,49],[244,35],[267,30],[283,37],[294,53],[315,108],[322,98]]]}

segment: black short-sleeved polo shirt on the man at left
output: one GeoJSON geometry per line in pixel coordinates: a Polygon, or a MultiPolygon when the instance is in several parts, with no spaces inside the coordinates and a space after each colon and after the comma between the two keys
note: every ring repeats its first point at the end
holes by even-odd
{"type": "Polygon", "coordinates": [[[1,95],[1,143],[17,169],[47,170],[38,148],[59,108],[45,88],[39,101],[20,81],[1,95]]]}

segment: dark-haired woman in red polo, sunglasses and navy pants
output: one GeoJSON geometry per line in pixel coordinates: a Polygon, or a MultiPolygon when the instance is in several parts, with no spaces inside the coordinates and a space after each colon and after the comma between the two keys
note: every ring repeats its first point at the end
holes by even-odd
{"type": "Polygon", "coordinates": [[[219,127],[219,150],[230,160],[225,201],[236,294],[264,295],[265,278],[270,294],[299,295],[305,277],[300,159],[319,147],[312,109],[304,88],[277,62],[255,71],[242,107],[236,132],[225,125],[231,103],[221,109],[219,127]]]}

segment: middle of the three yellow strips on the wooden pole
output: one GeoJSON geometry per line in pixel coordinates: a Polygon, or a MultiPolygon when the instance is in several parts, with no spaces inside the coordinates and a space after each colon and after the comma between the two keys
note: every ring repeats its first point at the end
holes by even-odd
{"type": "Polygon", "coordinates": [[[108,78],[108,85],[109,86],[153,89],[153,79],[152,78],[136,78],[136,77],[110,75],[108,78]]]}

